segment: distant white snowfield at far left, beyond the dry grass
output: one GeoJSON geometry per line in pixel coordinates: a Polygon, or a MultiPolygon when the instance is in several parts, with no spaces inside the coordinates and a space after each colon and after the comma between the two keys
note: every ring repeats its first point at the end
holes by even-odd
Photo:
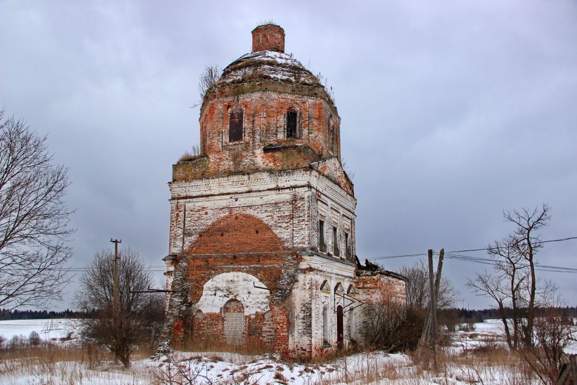
{"type": "Polygon", "coordinates": [[[10,340],[15,335],[28,338],[32,331],[45,341],[65,338],[73,332],[73,319],[9,320],[0,321],[0,335],[10,340]]]}

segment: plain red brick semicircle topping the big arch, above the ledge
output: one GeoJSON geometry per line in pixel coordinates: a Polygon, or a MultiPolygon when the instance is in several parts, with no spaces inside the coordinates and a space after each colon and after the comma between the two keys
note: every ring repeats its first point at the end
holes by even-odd
{"type": "Polygon", "coordinates": [[[190,245],[190,254],[268,252],[283,249],[283,241],[262,219],[228,214],[211,223],[190,245]]]}

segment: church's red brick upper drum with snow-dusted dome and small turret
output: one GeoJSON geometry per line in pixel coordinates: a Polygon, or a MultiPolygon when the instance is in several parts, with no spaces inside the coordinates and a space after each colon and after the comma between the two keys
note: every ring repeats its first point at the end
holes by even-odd
{"type": "Polygon", "coordinates": [[[205,91],[201,156],[179,163],[174,180],[340,162],[340,118],[331,95],[284,52],[278,25],[259,25],[252,38],[252,51],[230,63],[205,91]]]}

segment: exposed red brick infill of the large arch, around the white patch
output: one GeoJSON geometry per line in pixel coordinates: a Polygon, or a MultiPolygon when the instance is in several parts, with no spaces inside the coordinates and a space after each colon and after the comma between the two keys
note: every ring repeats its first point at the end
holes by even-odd
{"type": "MultiPolygon", "coordinates": [[[[201,235],[184,255],[189,264],[192,302],[200,300],[205,282],[230,271],[256,276],[271,288],[271,297],[274,296],[287,255],[293,254],[283,251],[282,241],[263,221],[252,215],[230,214],[213,222],[201,235]],[[251,253],[243,253],[246,251],[251,253]]],[[[275,349],[286,354],[289,323],[286,309],[282,302],[271,302],[270,307],[271,311],[266,313],[245,315],[243,304],[231,298],[218,313],[197,311],[193,339],[197,343],[275,349]]]]}

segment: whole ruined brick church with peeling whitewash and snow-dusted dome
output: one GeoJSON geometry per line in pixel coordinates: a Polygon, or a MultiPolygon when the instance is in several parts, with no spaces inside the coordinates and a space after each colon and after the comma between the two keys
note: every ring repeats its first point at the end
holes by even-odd
{"type": "MultiPolygon", "coordinates": [[[[406,279],[355,255],[340,118],[319,80],[260,25],[200,109],[201,156],[173,166],[167,320],[190,342],[323,356],[364,341],[364,309],[406,279]]],[[[213,345],[214,346],[214,345],[213,345]]]]}

